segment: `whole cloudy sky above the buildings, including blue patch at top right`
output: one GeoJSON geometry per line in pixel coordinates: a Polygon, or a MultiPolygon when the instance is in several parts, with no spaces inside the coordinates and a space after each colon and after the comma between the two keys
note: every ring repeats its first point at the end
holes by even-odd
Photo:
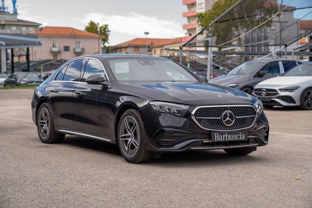
{"type": "MultiPolygon", "coordinates": [[[[280,2],[281,0],[279,0],[280,2]]],[[[292,0],[284,0],[287,5],[292,0]]],[[[12,1],[5,4],[12,12],[12,1]]],[[[110,45],[136,37],[173,38],[185,36],[182,0],[17,0],[18,18],[42,23],[42,26],[74,27],[84,30],[90,20],[108,24],[110,45]]],[[[312,0],[296,0],[294,7],[312,6],[312,0]]],[[[300,18],[310,9],[295,12],[300,18]]],[[[304,19],[312,20],[312,13],[304,19]]]]}

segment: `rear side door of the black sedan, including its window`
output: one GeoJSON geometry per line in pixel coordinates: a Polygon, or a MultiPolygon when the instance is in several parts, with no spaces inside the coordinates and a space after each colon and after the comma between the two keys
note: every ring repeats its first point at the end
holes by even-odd
{"type": "Polygon", "coordinates": [[[62,128],[73,128],[73,92],[79,80],[85,58],[65,65],[56,75],[48,88],[54,122],[62,128]]]}

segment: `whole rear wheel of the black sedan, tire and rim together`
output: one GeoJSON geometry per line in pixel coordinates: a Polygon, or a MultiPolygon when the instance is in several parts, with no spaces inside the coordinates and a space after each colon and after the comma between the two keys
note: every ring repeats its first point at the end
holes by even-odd
{"type": "Polygon", "coordinates": [[[52,108],[50,104],[41,104],[37,113],[37,131],[38,136],[43,143],[60,143],[63,141],[65,134],[57,133],[55,131],[52,108]],[[47,119],[42,119],[41,114],[48,114],[47,119]],[[40,119],[40,120],[39,120],[40,119]],[[45,129],[42,129],[46,125],[45,129]],[[48,129],[48,130],[46,130],[48,129]]]}

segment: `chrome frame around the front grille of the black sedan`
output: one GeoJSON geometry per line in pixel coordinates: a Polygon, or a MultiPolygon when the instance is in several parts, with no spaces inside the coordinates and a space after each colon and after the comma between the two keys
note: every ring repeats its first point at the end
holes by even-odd
{"type": "MultiPolygon", "coordinates": [[[[243,129],[247,129],[247,128],[251,128],[251,127],[253,127],[254,125],[255,125],[255,123],[256,123],[256,120],[257,120],[257,118],[258,118],[258,114],[257,114],[257,111],[256,111],[256,108],[255,108],[255,106],[253,106],[253,105],[248,105],[248,104],[246,104],[246,105],[205,105],[205,106],[198,106],[198,107],[196,107],[193,111],[192,111],[192,113],[191,113],[191,117],[192,117],[192,119],[195,121],[195,123],[200,127],[200,128],[202,128],[202,129],[205,129],[205,130],[209,130],[209,131],[237,131],[237,130],[243,130],[243,129]],[[230,130],[221,130],[221,129],[210,129],[210,128],[204,128],[204,127],[202,127],[202,125],[200,125],[198,122],[197,122],[197,120],[196,120],[196,118],[195,118],[195,116],[194,116],[194,114],[195,114],[195,112],[196,112],[196,110],[197,109],[199,109],[199,108],[216,108],[216,107],[252,107],[254,110],[255,110],[255,116],[253,116],[253,117],[255,117],[255,119],[254,119],[254,121],[253,121],[253,123],[250,125],[250,126],[248,126],[248,127],[245,127],[245,128],[237,128],[237,129],[230,129],[230,130]]],[[[217,117],[216,117],[217,118],[217,117]]],[[[235,118],[237,118],[237,117],[235,117],[235,118]]],[[[246,117],[247,118],[247,117],[246,117]]],[[[209,119],[208,117],[207,118],[205,118],[205,119],[209,119]]],[[[218,118],[217,118],[218,119],[218,118]]]]}

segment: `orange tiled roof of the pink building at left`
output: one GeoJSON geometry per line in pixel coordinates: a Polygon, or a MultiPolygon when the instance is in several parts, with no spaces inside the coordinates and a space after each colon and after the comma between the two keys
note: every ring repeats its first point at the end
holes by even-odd
{"type": "Polygon", "coordinates": [[[37,35],[43,36],[80,36],[80,37],[101,37],[92,32],[77,30],[72,27],[44,27],[42,30],[36,30],[37,35]]]}

